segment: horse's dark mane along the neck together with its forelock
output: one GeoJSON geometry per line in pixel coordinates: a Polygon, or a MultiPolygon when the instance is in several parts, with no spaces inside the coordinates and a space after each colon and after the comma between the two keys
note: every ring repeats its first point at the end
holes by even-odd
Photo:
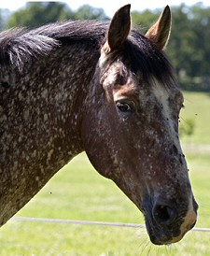
{"type": "MultiPolygon", "coordinates": [[[[51,23],[33,30],[10,29],[0,33],[0,65],[12,64],[22,70],[38,56],[75,42],[99,49],[105,41],[108,22],[65,21],[51,23]]],[[[147,81],[153,77],[167,85],[175,81],[173,68],[164,53],[145,36],[132,31],[121,56],[132,64],[133,72],[141,70],[147,81]]]]}

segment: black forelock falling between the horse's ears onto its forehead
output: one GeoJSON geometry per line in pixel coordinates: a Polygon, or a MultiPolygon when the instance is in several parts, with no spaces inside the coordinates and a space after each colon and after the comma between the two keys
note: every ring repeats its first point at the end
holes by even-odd
{"type": "Polygon", "coordinates": [[[125,61],[130,60],[133,73],[140,71],[148,84],[155,78],[165,87],[176,85],[172,64],[145,36],[132,31],[122,55],[125,61]]]}

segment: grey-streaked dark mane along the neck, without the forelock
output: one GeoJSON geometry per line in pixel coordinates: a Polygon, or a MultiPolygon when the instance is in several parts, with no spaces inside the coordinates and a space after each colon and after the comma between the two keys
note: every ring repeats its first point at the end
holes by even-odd
{"type": "Polygon", "coordinates": [[[25,63],[62,44],[80,40],[93,45],[102,37],[105,28],[99,21],[57,22],[33,30],[12,28],[0,33],[0,64],[12,64],[21,71],[25,63]]]}

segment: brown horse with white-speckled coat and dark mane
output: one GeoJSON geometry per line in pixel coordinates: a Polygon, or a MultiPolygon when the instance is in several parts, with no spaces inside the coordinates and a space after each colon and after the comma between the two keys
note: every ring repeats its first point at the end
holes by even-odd
{"type": "Polygon", "coordinates": [[[180,146],[183,107],[164,48],[170,7],[146,35],[131,5],[109,21],[0,34],[0,224],[78,153],[144,214],[155,245],[178,242],[198,205],[180,146]]]}

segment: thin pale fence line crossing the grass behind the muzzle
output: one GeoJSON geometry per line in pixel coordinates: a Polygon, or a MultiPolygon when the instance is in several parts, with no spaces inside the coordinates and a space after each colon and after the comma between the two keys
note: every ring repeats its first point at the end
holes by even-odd
{"type": "MultiPolygon", "coordinates": [[[[34,218],[34,217],[13,217],[11,220],[146,229],[146,225],[144,225],[144,224],[123,223],[123,222],[105,222],[105,221],[91,221],[91,220],[63,220],[63,219],[46,219],[46,218],[34,218]]],[[[192,232],[210,233],[210,228],[193,228],[191,231],[192,232]]]]}

